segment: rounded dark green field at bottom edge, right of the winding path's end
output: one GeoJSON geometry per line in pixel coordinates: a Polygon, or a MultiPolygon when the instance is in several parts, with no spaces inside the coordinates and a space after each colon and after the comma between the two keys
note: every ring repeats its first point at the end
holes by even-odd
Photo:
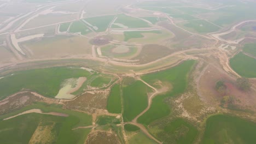
{"type": "Polygon", "coordinates": [[[193,125],[181,118],[174,119],[161,127],[162,131],[156,136],[163,143],[193,143],[198,133],[193,125]]]}

